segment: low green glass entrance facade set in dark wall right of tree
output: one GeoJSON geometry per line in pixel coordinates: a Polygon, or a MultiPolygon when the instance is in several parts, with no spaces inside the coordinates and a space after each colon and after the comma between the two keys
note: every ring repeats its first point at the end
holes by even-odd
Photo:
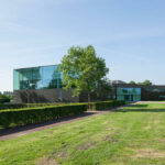
{"type": "Polygon", "coordinates": [[[118,88],[117,100],[141,101],[141,88],[118,88]]]}

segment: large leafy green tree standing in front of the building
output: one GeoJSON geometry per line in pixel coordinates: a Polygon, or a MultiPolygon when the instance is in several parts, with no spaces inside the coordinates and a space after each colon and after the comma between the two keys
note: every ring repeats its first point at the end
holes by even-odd
{"type": "Polygon", "coordinates": [[[74,96],[87,91],[88,102],[90,94],[96,91],[99,82],[109,73],[106,62],[97,57],[94,46],[73,46],[68,50],[59,64],[59,72],[63,72],[63,86],[65,89],[74,88],[74,96]]]}

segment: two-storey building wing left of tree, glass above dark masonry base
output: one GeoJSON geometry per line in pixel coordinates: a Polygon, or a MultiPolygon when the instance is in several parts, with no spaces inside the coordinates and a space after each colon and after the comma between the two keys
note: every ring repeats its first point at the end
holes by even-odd
{"type": "Polygon", "coordinates": [[[72,90],[62,89],[58,65],[14,69],[13,90],[15,103],[78,102],[72,90]]]}

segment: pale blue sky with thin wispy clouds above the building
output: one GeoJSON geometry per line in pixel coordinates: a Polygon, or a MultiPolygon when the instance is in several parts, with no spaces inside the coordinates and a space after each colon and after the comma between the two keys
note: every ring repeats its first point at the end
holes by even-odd
{"type": "Polygon", "coordinates": [[[13,69],[94,45],[111,80],[165,85],[165,0],[0,0],[0,91],[13,69]]]}

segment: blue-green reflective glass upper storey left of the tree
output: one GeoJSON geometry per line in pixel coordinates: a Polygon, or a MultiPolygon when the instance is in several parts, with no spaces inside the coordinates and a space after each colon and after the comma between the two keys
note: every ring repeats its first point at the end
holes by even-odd
{"type": "Polygon", "coordinates": [[[57,65],[15,69],[13,72],[14,90],[62,88],[62,73],[57,65]]]}

